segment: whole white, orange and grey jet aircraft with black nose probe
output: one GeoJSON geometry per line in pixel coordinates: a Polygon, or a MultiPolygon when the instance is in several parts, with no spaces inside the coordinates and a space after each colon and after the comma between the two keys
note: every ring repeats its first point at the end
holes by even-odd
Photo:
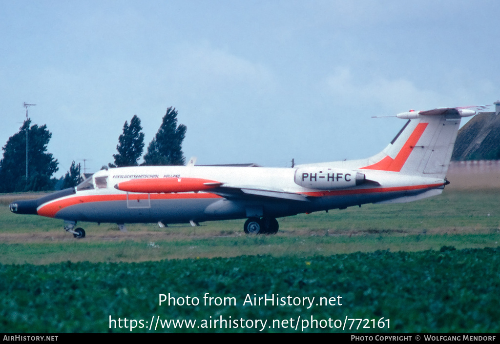
{"type": "Polygon", "coordinates": [[[170,223],[247,218],[245,233],[276,233],[276,218],[365,203],[409,202],[440,194],[460,119],[470,108],[402,112],[406,123],[378,154],[359,160],[295,165],[134,166],[100,170],[74,188],[10,204],[17,214],[77,222],[170,223]]]}

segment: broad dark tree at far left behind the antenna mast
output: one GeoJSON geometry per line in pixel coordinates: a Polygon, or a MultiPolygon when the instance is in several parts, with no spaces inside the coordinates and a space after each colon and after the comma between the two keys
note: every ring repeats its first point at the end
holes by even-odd
{"type": "Polygon", "coordinates": [[[42,191],[53,189],[50,177],[57,171],[57,159],[47,153],[52,134],[45,124],[31,125],[28,118],[2,147],[0,160],[0,192],[42,191]],[[26,130],[28,130],[28,178],[26,180],[26,130]]]}

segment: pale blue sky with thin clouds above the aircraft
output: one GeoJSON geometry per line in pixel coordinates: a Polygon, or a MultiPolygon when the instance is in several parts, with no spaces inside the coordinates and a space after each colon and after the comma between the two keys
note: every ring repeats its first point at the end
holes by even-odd
{"type": "MultiPolygon", "coordinates": [[[[25,118],[87,172],[170,106],[197,164],[357,159],[388,116],[500,98],[496,0],[0,0],[0,145],[25,118]]],[[[491,109],[494,106],[490,107],[491,109]]],[[[140,162],[140,161],[139,161],[140,162]]]]}

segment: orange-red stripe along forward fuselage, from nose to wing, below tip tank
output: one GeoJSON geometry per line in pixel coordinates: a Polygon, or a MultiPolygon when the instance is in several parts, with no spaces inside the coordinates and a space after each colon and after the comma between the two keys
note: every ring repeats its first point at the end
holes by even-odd
{"type": "MultiPolygon", "coordinates": [[[[221,198],[214,193],[151,193],[149,199],[193,199],[193,198],[221,198]]],[[[129,193],[128,199],[147,199],[147,193],[129,193]]],[[[126,200],[126,194],[95,194],[95,195],[80,195],[69,198],[58,199],[47,204],[41,205],[37,209],[38,215],[54,217],[57,211],[68,206],[91,203],[91,202],[106,202],[114,200],[126,200]]]]}

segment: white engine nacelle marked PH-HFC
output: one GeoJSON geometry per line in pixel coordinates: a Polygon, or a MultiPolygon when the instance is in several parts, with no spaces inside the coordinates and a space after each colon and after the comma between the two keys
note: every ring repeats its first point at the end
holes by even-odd
{"type": "Polygon", "coordinates": [[[318,190],[352,187],[364,183],[365,180],[363,173],[327,167],[297,168],[294,176],[296,184],[318,190]]]}

